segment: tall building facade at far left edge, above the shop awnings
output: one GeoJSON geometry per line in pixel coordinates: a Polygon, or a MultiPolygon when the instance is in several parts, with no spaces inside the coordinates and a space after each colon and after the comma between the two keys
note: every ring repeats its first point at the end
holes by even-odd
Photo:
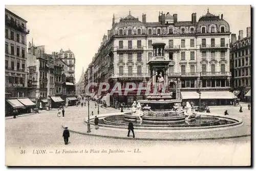
{"type": "Polygon", "coordinates": [[[5,9],[6,97],[27,97],[27,21],[5,9]]]}

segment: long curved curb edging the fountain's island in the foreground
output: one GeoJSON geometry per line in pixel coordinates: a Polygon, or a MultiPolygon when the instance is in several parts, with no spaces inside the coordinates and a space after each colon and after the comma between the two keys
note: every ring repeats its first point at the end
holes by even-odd
{"type": "MultiPolygon", "coordinates": [[[[65,129],[63,125],[61,125],[62,129],[65,129]]],[[[90,133],[81,133],[78,131],[69,130],[72,133],[80,134],[80,135],[89,135],[94,137],[102,137],[102,138],[114,138],[114,139],[129,139],[129,140],[147,140],[147,141],[197,141],[197,140],[218,140],[218,139],[230,139],[230,138],[241,138],[241,137],[250,137],[251,134],[248,135],[240,135],[240,136],[230,136],[230,137],[216,137],[216,138],[188,138],[188,139],[154,139],[154,138],[126,138],[126,137],[115,137],[115,136],[106,136],[106,135],[96,135],[90,133]]]]}

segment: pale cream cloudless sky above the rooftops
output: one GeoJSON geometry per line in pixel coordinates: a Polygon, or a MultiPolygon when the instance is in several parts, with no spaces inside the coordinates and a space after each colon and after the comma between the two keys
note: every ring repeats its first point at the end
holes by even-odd
{"type": "Polygon", "coordinates": [[[28,21],[27,28],[30,34],[27,36],[27,45],[32,41],[35,46],[45,45],[46,53],[51,54],[70,49],[76,58],[75,78],[79,80],[82,67],[84,71],[97,53],[103,35],[112,27],[112,18],[115,14],[115,22],[120,17],[125,17],[131,10],[131,15],[139,17],[142,21],[142,13],[146,14],[146,22],[158,22],[159,11],[178,14],[179,21],[190,21],[191,14],[197,13],[197,21],[200,16],[209,12],[215,15],[223,14],[229,26],[230,32],[239,34],[250,27],[250,6],[6,6],[16,15],[28,21]]]}

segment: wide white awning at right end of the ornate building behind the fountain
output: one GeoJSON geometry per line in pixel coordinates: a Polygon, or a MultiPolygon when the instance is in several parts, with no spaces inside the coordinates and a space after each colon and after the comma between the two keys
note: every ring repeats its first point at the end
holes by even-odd
{"type": "Polygon", "coordinates": [[[237,98],[233,93],[228,91],[223,92],[201,92],[201,99],[234,99],[237,98]]]}

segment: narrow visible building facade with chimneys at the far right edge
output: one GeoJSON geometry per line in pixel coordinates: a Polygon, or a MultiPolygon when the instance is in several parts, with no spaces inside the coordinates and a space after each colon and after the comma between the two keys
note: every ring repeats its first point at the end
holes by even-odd
{"type": "Polygon", "coordinates": [[[243,30],[231,34],[230,71],[231,87],[241,100],[246,100],[246,93],[251,89],[251,28],[247,27],[246,37],[243,30]]]}

